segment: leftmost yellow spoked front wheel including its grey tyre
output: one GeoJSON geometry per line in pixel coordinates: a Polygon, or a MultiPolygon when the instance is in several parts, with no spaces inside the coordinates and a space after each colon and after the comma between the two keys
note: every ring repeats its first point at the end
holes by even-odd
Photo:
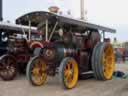
{"type": "Polygon", "coordinates": [[[43,85],[47,79],[47,64],[41,57],[33,57],[26,70],[26,75],[31,84],[43,85]]]}

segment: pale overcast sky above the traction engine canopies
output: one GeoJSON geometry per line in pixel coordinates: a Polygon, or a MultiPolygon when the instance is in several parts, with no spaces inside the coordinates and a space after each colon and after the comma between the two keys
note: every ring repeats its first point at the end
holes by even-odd
{"type": "MultiPolygon", "coordinates": [[[[62,11],[71,10],[73,17],[80,17],[80,0],[3,0],[4,21],[13,22],[25,13],[47,10],[51,5],[58,5],[62,11]]],[[[88,22],[114,28],[117,33],[107,36],[128,41],[128,0],[85,0],[85,9],[88,22]]]]}

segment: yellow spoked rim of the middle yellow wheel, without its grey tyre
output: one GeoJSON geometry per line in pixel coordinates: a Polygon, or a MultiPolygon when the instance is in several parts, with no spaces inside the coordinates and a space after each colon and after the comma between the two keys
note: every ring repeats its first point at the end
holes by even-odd
{"type": "Polygon", "coordinates": [[[74,60],[70,60],[64,67],[64,82],[68,88],[75,86],[78,80],[78,66],[74,60]]]}

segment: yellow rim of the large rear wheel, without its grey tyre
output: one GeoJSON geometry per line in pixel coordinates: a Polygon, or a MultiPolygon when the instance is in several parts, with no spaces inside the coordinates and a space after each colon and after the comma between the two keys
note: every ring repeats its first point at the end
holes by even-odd
{"type": "Polygon", "coordinates": [[[104,77],[111,79],[114,71],[114,52],[110,44],[103,50],[102,64],[104,77]]]}

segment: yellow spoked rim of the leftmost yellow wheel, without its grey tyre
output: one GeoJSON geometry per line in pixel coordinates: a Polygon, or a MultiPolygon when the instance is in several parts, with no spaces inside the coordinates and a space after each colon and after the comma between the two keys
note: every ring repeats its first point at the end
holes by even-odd
{"type": "Polygon", "coordinates": [[[41,58],[33,61],[31,70],[32,81],[36,85],[43,85],[47,78],[47,65],[41,58]]]}

